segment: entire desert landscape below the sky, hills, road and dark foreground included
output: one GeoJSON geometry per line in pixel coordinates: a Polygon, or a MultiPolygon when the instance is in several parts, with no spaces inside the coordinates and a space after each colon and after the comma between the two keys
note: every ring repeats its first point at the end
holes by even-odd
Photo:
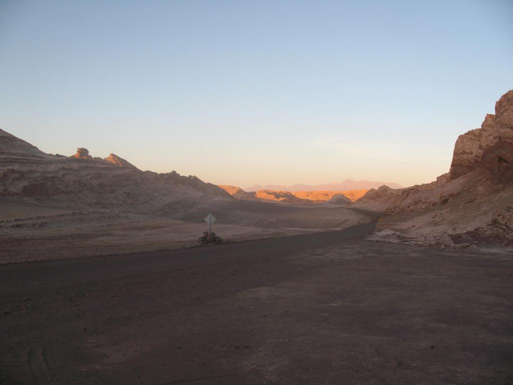
{"type": "Polygon", "coordinates": [[[411,187],[246,191],[6,131],[0,151],[2,383],[513,378],[513,91],[411,187]],[[223,245],[197,245],[209,213],[223,245]]]}

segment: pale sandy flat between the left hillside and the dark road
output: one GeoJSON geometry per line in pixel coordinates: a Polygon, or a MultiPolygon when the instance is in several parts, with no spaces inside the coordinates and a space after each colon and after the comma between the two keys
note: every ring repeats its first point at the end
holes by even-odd
{"type": "Polygon", "coordinates": [[[369,221],[355,211],[331,205],[216,202],[181,216],[168,216],[0,199],[0,263],[195,246],[208,230],[203,219],[209,212],[218,218],[214,232],[228,242],[308,234],[369,221]]]}

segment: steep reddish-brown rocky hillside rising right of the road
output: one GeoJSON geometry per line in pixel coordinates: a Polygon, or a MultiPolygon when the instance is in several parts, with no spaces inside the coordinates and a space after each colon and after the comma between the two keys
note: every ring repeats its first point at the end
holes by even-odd
{"type": "Polygon", "coordinates": [[[386,238],[427,244],[513,244],[513,90],[481,128],[461,135],[447,174],[402,189],[371,189],[353,207],[389,214],[386,238]]]}

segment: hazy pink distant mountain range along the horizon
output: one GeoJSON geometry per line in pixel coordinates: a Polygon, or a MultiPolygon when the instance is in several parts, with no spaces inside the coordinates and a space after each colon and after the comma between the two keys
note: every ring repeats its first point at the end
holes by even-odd
{"type": "Polygon", "coordinates": [[[291,186],[268,184],[265,186],[255,185],[244,188],[245,191],[260,191],[260,190],[279,190],[279,191],[343,191],[343,190],[363,190],[371,188],[379,188],[381,186],[388,186],[390,188],[403,188],[400,184],[393,182],[371,182],[371,181],[355,181],[346,179],[340,183],[328,183],[318,185],[307,184],[293,184],[291,186]]]}

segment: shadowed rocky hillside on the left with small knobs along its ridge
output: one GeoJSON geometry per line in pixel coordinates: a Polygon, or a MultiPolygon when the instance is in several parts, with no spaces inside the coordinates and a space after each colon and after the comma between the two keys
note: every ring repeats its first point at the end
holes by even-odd
{"type": "Polygon", "coordinates": [[[3,130],[0,198],[142,213],[170,205],[180,211],[191,205],[232,199],[223,189],[194,176],[141,171],[114,154],[106,159],[93,158],[85,148],[78,148],[71,157],[50,155],[3,130]]]}

